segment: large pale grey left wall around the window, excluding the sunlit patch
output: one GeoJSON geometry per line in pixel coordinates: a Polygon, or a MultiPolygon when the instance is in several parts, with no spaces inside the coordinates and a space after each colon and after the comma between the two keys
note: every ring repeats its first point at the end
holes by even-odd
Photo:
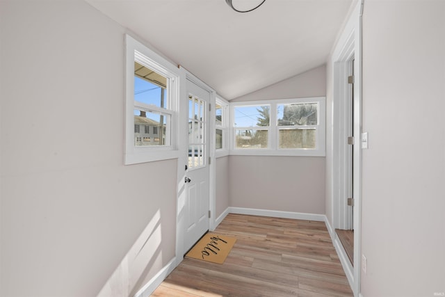
{"type": "Polygon", "coordinates": [[[175,255],[177,163],[122,165],[124,29],[83,1],[0,6],[0,295],[96,296],[154,222],[150,278],[175,255]]]}

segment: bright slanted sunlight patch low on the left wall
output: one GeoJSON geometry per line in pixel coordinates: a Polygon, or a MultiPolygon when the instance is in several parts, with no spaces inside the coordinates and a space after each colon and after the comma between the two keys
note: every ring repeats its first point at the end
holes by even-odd
{"type": "Polygon", "coordinates": [[[150,268],[162,266],[161,234],[158,209],[97,297],[134,296],[143,287],[150,268]]]}

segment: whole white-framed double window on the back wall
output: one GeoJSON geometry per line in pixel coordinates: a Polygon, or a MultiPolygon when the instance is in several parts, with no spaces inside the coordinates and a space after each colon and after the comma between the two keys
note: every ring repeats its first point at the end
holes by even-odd
{"type": "Polygon", "coordinates": [[[231,154],[325,156],[325,97],[231,106],[231,154]]]}

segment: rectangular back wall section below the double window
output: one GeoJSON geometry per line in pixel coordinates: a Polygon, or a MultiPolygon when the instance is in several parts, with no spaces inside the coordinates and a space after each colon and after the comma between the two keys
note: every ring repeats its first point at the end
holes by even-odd
{"type": "Polygon", "coordinates": [[[325,158],[230,156],[230,206],[325,214],[325,158]]]}

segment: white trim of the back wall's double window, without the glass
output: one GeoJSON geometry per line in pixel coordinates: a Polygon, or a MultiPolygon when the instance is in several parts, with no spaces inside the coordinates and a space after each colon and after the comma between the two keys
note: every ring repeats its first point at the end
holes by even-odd
{"type": "MultiPolygon", "coordinates": [[[[282,128],[284,129],[284,128],[282,128]]],[[[230,152],[231,155],[241,156],[325,156],[326,155],[326,97],[307,97],[295,99],[273,99],[249,102],[230,103],[230,152]],[[318,103],[318,125],[316,127],[317,139],[316,149],[280,149],[278,148],[278,130],[277,126],[277,105],[278,104],[299,104],[299,103],[318,103]],[[234,127],[234,108],[235,106],[270,106],[270,124],[269,127],[234,127]],[[240,128],[249,129],[268,129],[269,147],[266,149],[237,149],[235,148],[235,131],[240,128]]]]}

